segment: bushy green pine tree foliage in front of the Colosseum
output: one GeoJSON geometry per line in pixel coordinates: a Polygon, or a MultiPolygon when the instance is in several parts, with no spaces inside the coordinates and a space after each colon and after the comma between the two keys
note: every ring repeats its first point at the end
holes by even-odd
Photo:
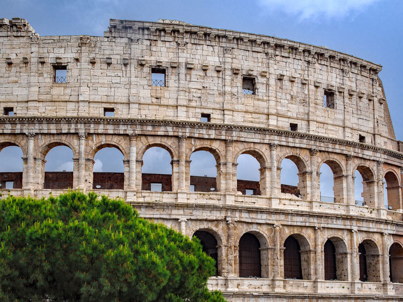
{"type": "Polygon", "coordinates": [[[225,301],[214,260],[130,205],[73,191],[0,201],[1,301],[225,301]]]}

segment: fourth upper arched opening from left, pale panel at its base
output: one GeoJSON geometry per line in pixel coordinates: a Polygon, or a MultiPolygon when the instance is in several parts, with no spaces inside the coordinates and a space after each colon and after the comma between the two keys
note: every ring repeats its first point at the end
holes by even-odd
{"type": "Polygon", "coordinates": [[[172,191],[172,157],[159,146],[152,146],[143,155],[142,190],[172,191]]]}

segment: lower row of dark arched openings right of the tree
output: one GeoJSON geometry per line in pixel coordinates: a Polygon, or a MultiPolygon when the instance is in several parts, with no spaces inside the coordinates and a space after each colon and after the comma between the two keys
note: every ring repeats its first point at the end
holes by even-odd
{"type": "MultiPolygon", "coordinates": [[[[238,243],[238,275],[239,277],[262,277],[262,248],[265,243],[258,239],[258,234],[247,232],[242,235],[238,243]]],[[[219,254],[219,240],[209,230],[199,230],[193,234],[200,240],[203,251],[216,261],[216,275],[221,275],[219,265],[222,257],[219,254]]],[[[313,263],[311,247],[308,240],[301,234],[293,234],[283,243],[282,276],[285,279],[313,279],[313,263]]],[[[370,239],[363,240],[357,247],[360,281],[381,282],[380,262],[381,253],[376,243],[370,239]]],[[[348,252],[344,241],[338,237],[330,237],[322,248],[323,278],[324,280],[348,280],[348,252]]],[[[394,242],[389,248],[389,278],[391,282],[403,283],[403,246],[394,242]]]]}

